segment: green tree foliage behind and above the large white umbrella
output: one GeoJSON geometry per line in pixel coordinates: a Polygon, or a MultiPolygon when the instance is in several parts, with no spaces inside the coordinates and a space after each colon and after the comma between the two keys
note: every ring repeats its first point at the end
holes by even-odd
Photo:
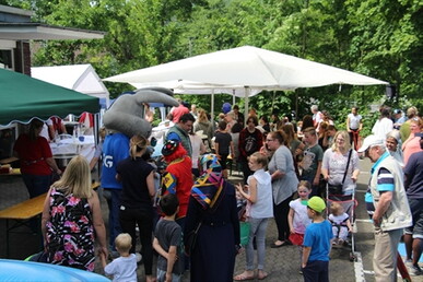
{"type": "MultiPolygon", "coordinates": [[[[102,78],[189,56],[244,45],[356,71],[396,85],[330,85],[263,92],[251,107],[270,115],[329,109],[339,122],[353,105],[422,109],[423,9],[421,0],[1,0],[35,12],[34,21],[106,32],[103,40],[43,42],[35,66],[90,62],[102,78]],[[336,98],[333,98],[336,97],[336,98]]],[[[108,83],[118,95],[129,85],[108,83]]],[[[184,95],[210,110],[210,96],[184,95]]],[[[228,95],[215,96],[215,110],[228,95]]],[[[244,101],[237,98],[243,105],[244,101]]],[[[372,117],[372,115],[368,115],[372,117]]]]}

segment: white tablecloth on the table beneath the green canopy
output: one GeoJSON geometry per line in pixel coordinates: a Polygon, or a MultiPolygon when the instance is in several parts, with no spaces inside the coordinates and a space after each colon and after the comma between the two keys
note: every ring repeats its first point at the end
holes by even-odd
{"type": "Polygon", "coordinates": [[[80,141],[78,138],[69,138],[60,140],[56,143],[50,143],[52,155],[81,154],[85,156],[89,162],[91,162],[95,152],[94,136],[83,137],[84,141],[80,141]]]}

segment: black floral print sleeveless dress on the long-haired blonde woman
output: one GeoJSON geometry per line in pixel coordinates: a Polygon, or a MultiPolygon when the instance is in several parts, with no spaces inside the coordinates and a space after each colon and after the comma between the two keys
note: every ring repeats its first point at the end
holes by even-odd
{"type": "Polygon", "coordinates": [[[94,271],[94,226],[87,199],[52,188],[46,227],[48,262],[94,271]]]}

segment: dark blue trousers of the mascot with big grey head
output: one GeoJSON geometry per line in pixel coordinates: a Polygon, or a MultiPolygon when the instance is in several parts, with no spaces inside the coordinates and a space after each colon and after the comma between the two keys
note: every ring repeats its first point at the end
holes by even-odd
{"type": "Polygon", "coordinates": [[[103,196],[107,200],[108,207],[108,231],[109,231],[109,246],[111,250],[116,250],[115,238],[119,235],[122,230],[119,222],[119,210],[120,210],[120,195],[121,189],[108,189],[104,188],[103,196]]]}

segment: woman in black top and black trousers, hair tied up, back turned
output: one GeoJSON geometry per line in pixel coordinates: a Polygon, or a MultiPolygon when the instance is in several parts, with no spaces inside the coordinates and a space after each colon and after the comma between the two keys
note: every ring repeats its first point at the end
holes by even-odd
{"type": "Polygon", "coordinates": [[[130,139],[129,157],[118,163],[116,179],[122,183],[119,221],[122,232],[132,237],[130,252],[136,254],[138,225],[146,281],[154,281],[152,245],[154,167],[142,157],[148,145],[149,141],[141,136],[133,136],[130,139]]]}

